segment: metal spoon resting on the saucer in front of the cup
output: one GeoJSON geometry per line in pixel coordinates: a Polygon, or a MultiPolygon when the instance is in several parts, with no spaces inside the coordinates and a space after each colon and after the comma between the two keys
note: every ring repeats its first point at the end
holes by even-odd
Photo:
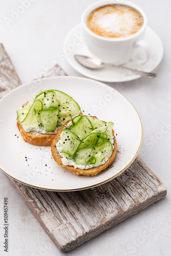
{"type": "Polygon", "coordinates": [[[103,67],[113,67],[113,68],[117,68],[117,69],[129,70],[135,74],[138,74],[140,76],[145,76],[148,78],[154,78],[157,76],[156,73],[151,73],[151,72],[148,73],[148,72],[143,72],[140,70],[127,68],[127,67],[120,66],[120,65],[103,63],[100,59],[94,58],[94,57],[88,57],[88,56],[83,56],[83,55],[78,55],[78,54],[74,55],[74,57],[82,66],[89,68],[89,69],[101,69],[103,67]]]}

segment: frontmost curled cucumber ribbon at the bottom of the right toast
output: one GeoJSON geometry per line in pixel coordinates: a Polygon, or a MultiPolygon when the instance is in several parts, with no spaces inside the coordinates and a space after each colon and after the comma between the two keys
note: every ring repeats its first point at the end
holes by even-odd
{"type": "Polygon", "coordinates": [[[112,143],[104,139],[104,143],[99,146],[85,147],[76,151],[74,161],[76,164],[98,164],[101,163],[113,150],[112,143]]]}

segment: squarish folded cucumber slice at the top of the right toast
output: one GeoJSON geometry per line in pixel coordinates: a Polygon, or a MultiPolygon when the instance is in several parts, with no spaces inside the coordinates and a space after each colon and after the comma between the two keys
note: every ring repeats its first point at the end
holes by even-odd
{"type": "Polygon", "coordinates": [[[89,119],[87,119],[85,116],[81,116],[73,126],[70,126],[70,130],[77,134],[82,140],[85,136],[91,133],[93,127],[89,119]]]}

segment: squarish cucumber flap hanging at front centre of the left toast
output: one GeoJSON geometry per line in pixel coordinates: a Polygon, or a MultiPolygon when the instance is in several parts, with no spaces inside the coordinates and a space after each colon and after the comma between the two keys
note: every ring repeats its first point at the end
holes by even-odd
{"type": "Polygon", "coordinates": [[[49,108],[47,110],[40,110],[39,113],[46,132],[54,132],[57,126],[58,109],[49,108]]]}

